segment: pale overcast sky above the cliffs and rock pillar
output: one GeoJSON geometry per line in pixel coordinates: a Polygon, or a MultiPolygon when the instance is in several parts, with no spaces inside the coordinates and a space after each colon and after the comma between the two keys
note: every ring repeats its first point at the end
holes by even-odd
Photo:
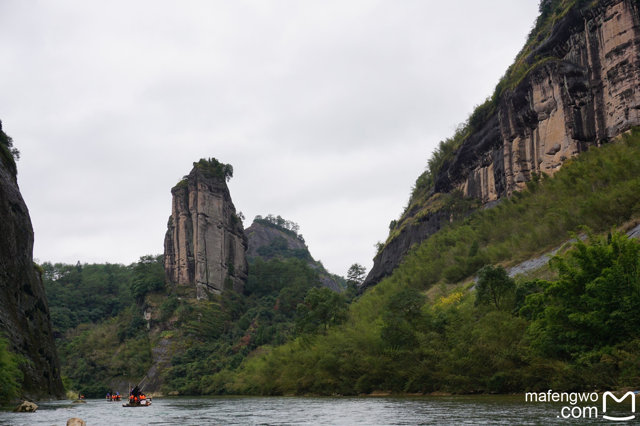
{"type": "Polygon", "coordinates": [[[0,1],[0,119],[40,261],[163,251],[192,163],[246,216],[372,266],[438,141],[493,91],[538,0],[0,1]]]}

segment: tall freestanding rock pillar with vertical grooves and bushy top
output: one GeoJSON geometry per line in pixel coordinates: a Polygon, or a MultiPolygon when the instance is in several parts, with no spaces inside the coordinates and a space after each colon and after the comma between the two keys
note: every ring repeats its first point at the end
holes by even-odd
{"type": "Polygon", "coordinates": [[[248,271],[247,239],[225,179],[195,164],[171,193],[172,215],[164,237],[166,281],[193,285],[198,300],[230,286],[241,292],[248,271]]]}

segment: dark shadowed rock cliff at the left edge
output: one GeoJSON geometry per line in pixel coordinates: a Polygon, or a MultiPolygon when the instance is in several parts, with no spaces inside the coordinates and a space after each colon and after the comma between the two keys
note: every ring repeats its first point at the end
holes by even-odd
{"type": "Polygon", "coordinates": [[[31,218],[20,195],[15,162],[0,144],[0,333],[10,350],[28,361],[21,366],[23,396],[62,399],[47,296],[34,266],[31,218]]]}

